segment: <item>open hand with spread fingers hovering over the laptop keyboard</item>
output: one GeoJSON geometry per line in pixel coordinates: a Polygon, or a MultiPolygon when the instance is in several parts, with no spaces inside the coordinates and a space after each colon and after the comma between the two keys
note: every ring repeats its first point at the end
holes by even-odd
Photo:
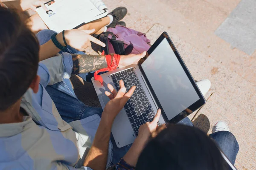
{"type": "Polygon", "coordinates": [[[110,123],[113,123],[116,115],[124,108],[125,103],[130,99],[131,95],[134,93],[135,86],[132,86],[131,89],[126,93],[126,88],[122,80],[119,81],[120,90],[117,92],[111,84],[108,84],[108,88],[111,91],[105,91],[106,96],[111,99],[105,106],[102,113],[102,119],[107,120],[110,123]]]}

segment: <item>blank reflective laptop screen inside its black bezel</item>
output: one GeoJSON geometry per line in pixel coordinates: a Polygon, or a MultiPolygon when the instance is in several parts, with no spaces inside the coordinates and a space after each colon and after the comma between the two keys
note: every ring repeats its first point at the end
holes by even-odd
{"type": "Polygon", "coordinates": [[[200,99],[166,38],[141,67],[169,120],[200,99]]]}

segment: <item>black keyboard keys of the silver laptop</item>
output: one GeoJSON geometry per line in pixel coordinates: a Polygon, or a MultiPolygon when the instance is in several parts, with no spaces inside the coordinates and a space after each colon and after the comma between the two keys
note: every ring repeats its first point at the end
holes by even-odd
{"type": "MultiPolygon", "coordinates": [[[[136,86],[133,95],[125,104],[124,108],[131,126],[133,127],[134,133],[138,136],[140,126],[145,122],[152,122],[155,117],[155,113],[148,102],[145,91],[143,90],[133,68],[111,74],[111,78],[117,91],[120,89],[119,81],[121,79],[124,82],[127,92],[132,86],[136,86]]],[[[157,124],[159,125],[159,123],[157,124]]]]}

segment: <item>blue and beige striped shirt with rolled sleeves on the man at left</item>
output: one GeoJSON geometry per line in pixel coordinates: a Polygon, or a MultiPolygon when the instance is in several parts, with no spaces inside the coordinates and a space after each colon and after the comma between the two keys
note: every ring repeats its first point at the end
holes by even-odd
{"type": "MultiPolygon", "coordinates": [[[[0,170],[91,170],[81,166],[82,157],[93,142],[100,117],[93,115],[67,123],[45,90],[47,85],[70,78],[72,67],[68,53],[39,63],[39,91],[34,94],[29,89],[21,102],[29,116],[20,123],[0,124],[0,170]]],[[[110,142],[107,166],[111,159],[110,142]]]]}

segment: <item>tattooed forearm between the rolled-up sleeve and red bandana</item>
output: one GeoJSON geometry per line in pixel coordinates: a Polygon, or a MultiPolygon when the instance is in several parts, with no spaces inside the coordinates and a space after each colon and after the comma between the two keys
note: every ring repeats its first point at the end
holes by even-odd
{"type": "Polygon", "coordinates": [[[89,73],[91,71],[108,67],[105,56],[72,54],[72,59],[72,74],[89,73]]]}

